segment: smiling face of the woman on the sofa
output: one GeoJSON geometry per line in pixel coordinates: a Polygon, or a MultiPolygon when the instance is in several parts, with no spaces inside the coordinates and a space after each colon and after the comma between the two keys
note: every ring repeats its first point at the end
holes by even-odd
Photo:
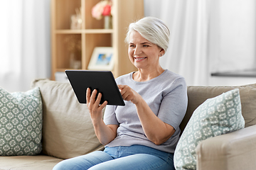
{"type": "Polygon", "coordinates": [[[129,35],[128,55],[137,69],[156,69],[159,66],[160,55],[164,55],[164,50],[134,30],[129,35]]]}

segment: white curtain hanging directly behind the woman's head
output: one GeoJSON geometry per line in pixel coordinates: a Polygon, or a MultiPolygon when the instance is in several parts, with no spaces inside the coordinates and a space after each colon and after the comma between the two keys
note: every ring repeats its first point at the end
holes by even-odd
{"type": "Polygon", "coordinates": [[[155,16],[171,36],[160,64],[181,74],[187,85],[208,85],[208,0],[144,0],[145,16],[155,16]]]}

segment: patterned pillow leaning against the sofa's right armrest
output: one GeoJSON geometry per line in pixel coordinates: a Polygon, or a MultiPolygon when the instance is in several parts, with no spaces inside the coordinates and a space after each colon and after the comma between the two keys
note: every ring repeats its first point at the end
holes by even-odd
{"type": "Polygon", "coordinates": [[[199,142],[244,127],[239,89],[207,99],[193,112],[178,141],[174,153],[175,168],[196,169],[196,146],[199,142]]]}

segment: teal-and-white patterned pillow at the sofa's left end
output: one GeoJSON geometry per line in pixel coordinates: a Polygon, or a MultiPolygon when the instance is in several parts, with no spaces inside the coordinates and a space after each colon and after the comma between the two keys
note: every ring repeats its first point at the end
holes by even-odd
{"type": "Polygon", "coordinates": [[[43,108],[39,88],[9,93],[0,87],[0,155],[41,152],[43,108]]]}

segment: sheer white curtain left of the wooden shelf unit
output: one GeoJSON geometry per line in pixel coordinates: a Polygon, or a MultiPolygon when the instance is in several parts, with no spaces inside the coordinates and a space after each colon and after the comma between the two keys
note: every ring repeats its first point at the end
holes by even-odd
{"type": "Polygon", "coordinates": [[[50,77],[50,0],[0,1],[0,86],[27,91],[50,77]]]}

